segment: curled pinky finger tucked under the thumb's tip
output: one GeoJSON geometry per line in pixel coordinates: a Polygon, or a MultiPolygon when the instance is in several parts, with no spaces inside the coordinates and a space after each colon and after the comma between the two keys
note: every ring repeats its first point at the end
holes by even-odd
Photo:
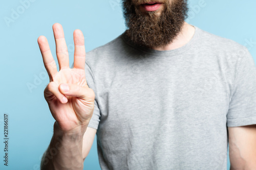
{"type": "Polygon", "coordinates": [[[45,99],[48,102],[55,97],[60,103],[65,104],[68,102],[67,97],[59,91],[57,83],[50,82],[45,89],[45,99]]]}

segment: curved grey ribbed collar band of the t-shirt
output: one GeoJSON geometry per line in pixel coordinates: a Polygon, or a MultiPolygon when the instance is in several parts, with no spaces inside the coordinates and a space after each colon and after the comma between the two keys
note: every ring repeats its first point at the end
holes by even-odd
{"type": "MultiPolygon", "coordinates": [[[[191,25],[193,26],[193,25],[191,25]]],[[[146,53],[148,55],[153,55],[153,56],[174,56],[174,55],[178,55],[181,53],[184,53],[185,51],[187,51],[191,45],[194,44],[194,42],[196,41],[196,39],[198,38],[198,34],[200,29],[196,26],[193,26],[195,28],[195,33],[193,35],[193,37],[183,46],[176,48],[174,50],[166,50],[166,51],[159,51],[159,50],[154,50],[151,48],[147,48],[147,47],[142,47],[142,46],[138,46],[136,44],[134,44],[132,42],[132,40],[130,38],[128,38],[125,35],[125,32],[121,35],[121,39],[127,43],[128,45],[130,45],[131,47],[135,48],[136,50],[139,50],[143,53],[146,53]]]]}

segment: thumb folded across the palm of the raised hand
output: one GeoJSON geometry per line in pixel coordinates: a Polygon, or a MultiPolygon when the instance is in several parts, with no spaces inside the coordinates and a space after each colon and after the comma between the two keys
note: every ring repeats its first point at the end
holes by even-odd
{"type": "Polygon", "coordinates": [[[95,93],[93,89],[86,86],[79,86],[77,84],[66,84],[62,83],[59,85],[59,91],[66,96],[72,96],[81,98],[83,100],[92,100],[95,99],[95,93]]]}

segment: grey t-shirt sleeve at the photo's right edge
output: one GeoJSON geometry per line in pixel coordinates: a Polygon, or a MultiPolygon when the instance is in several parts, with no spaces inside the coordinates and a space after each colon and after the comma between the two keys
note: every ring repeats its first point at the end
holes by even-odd
{"type": "Polygon", "coordinates": [[[256,67],[247,49],[244,54],[237,64],[227,113],[227,127],[256,124],[256,67]]]}

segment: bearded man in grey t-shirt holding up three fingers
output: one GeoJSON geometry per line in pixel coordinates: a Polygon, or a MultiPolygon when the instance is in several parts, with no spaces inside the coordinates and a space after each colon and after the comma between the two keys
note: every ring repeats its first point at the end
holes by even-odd
{"type": "Polygon", "coordinates": [[[256,169],[256,68],[248,50],[184,20],[186,0],[123,0],[127,30],[74,66],[61,25],[38,44],[55,118],[41,169],[83,169],[95,134],[102,169],[256,169]],[[84,71],[85,70],[85,71],[84,71]]]}

